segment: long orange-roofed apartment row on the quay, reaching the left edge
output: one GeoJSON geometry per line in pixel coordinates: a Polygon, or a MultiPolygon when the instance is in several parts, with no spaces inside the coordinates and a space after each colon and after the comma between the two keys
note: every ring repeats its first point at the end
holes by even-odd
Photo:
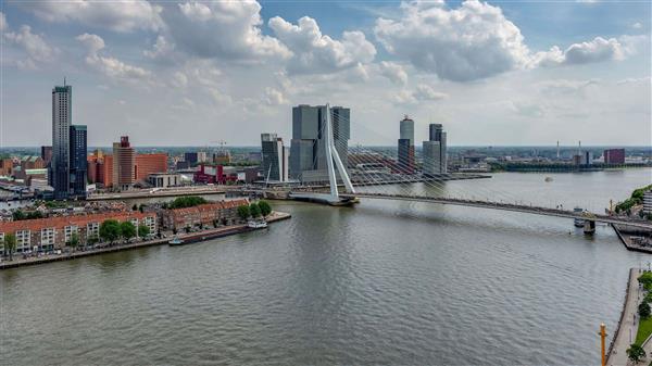
{"type": "Polygon", "coordinates": [[[0,223],[0,253],[4,252],[4,237],[13,234],[16,237],[16,252],[28,250],[51,251],[61,249],[70,242],[73,234],[77,234],[79,244],[85,244],[90,238],[99,238],[100,225],[108,219],[131,222],[136,227],[145,225],[150,232],[156,232],[156,214],[153,212],[110,212],[101,214],[85,214],[57,216],[37,219],[24,219],[0,223]]]}

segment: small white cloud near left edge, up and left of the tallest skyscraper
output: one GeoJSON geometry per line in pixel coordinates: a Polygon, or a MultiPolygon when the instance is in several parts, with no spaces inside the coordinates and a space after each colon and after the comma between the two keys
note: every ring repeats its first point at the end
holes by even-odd
{"type": "Polygon", "coordinates": [[[21,26],[18,31],[5,33],[4,38],[27,54],[26,60],[16,62],[20,68],[37,68],[37,63],[51,62],[59,54],[59,50],[50,47],[40,35],[33,34],[28,25],[21,26]]]}

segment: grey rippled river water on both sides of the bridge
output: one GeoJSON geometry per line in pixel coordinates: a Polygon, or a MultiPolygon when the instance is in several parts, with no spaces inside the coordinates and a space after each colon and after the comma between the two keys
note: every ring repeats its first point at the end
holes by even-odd
{"type": "MultiPolygon", "coordinates": [[[[546,176],[443,190],[599,212],[652,181],[651,169],[546,176]]],[[[372,200],[275,209],[292,219],[1,272],[3,363],[594,365],[627,269],[652,261],[609,227],[590,238],[553,217],[372,200]]]]}

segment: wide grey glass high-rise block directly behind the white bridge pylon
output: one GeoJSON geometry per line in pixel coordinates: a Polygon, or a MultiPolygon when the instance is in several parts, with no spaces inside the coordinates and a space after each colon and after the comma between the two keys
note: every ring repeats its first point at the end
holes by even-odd
{"type": "MultiPolygon", "coordinates": [[[[301,104],[292,108],[292,140],[289,154],[290,177],[304,182],[328,180],[326,139],[323,138],[326,105],[301,104]]],[[[331,106],[335,148],[348,166],[351,110],[331,106]]]]}

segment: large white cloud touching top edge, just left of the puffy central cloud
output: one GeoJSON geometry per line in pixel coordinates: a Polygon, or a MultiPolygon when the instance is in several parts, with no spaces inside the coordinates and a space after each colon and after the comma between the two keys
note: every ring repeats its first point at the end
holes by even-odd
{"type": "Polygon", "coordinates": [[[199,58],[261,63],[264,56],[288,58],[290,52],[261,31],[256,1],[186,2],[166,12],[177,48],[199,58]]]}

